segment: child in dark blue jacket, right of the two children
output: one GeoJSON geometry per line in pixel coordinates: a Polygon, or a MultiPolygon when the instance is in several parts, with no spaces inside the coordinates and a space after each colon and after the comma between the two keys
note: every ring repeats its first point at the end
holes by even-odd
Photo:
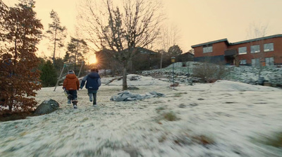
{"type": "Polygon", "coordinates": [[[85,85],[85,88],[88,91],[90,102],[93,101],[93,106],[97,106],[97,92],[99,87],[101,86],[101,78],[98,74],[97,68],[92,68],[91,72],[83,77],[82,82],[80,84],[80,89],[82,89],[85,85]]]}

